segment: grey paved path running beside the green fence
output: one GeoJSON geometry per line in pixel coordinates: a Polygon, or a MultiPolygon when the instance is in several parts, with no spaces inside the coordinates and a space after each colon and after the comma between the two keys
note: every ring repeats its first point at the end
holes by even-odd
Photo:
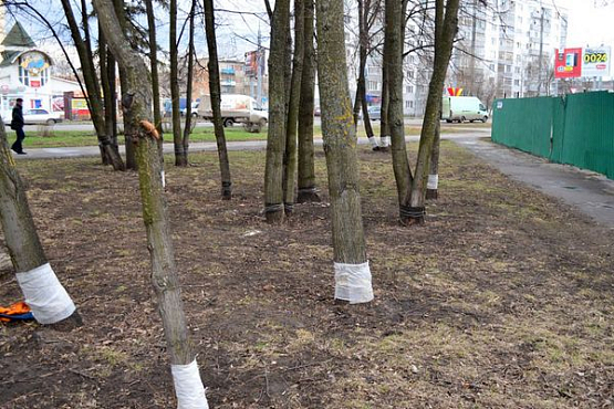
{"type": "Polygon", "coordinates": [[[512,179],[559,198],[599,224],[614,229],[614,180],[572,166],[551,164],[543,158],[493,144],[490,138],[455,141],[512,179]]]}

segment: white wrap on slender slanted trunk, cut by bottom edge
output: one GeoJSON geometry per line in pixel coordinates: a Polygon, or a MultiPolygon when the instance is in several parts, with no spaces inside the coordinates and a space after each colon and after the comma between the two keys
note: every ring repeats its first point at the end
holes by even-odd
{"type": "Polygon", "coordinates": [[[188,365],[170,365],[177,409],[209,409],[196,359],[188,365]]]}

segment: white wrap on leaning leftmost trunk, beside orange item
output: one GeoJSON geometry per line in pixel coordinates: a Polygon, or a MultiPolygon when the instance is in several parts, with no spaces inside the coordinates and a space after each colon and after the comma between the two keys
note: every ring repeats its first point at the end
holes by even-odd
{"type": "Polygon", "coordinates": [[[49,263],[15,275],[25,304],[30,306],[39,323],[59,323],[76,310],[49,263]]]}

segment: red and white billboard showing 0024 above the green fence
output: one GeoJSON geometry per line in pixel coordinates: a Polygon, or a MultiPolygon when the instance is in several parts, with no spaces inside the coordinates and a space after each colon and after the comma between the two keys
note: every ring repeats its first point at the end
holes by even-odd
{"type": "Polygon", "coordinates": [[[554,77],[608,76],[610,55],[610,46],[556,50],[554,56],[554,77]]]}

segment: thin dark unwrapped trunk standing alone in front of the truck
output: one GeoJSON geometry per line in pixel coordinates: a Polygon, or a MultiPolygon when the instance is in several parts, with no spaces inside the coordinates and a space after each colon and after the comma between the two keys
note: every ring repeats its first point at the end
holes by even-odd
{"type": "Polygon", "coordinates": [[[214,127],[216,129],[216,143],[218,146],[219,167],[221,176],[221,197],[225,200],[232,198],[232,178],[230,175],[230,161],[226,147],[226,135],[221,120],[221,86],[219,81],[218,46],[216,40],[216,23],[214,13],[214,0],[205,0],[205,31],[207,34],[207,48],[209,50],[209,92],[211,94],[211,111],[214,113],[214,127]]]}

